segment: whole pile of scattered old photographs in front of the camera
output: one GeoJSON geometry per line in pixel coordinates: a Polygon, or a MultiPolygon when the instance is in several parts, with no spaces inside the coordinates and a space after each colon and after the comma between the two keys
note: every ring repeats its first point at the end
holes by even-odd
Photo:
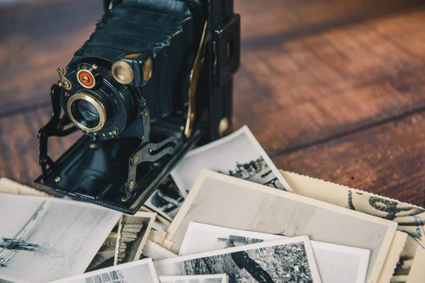
{"type": "Polygon", "coordinates": [[[244,126],[133,216],[1,179],[0,283],[414,283],[423,212],[280,173],[244,126]]]}

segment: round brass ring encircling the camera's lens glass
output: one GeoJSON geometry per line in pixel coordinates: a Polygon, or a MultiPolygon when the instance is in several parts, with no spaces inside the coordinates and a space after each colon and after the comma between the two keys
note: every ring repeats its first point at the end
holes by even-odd
{"type": "Polygon", "coordinates": [[[103,103],[101,103],[101,100],[98,100],[96,96],[93,96],[90,93],[84,93],[84,92],[75,93],[74,96],[71,96],[71,98],[69,98],[68,100],[67,110],[68,110],[69,118],[72,120],[74,125],[76,125],[77,127],[79,127],[80,129],[86,132],[97,132],[98,130],[102,129],[102,127],[106,123],[105,106],[103,105],[103,103]],[[79,100],[79,99],[86,100],[87,102],[91,103],[91,105],[93,105],[94,108],[96,108],[99,114],[99,122],[98,122],[98,125],[96,125],[96,127],[91,127],[91,128],[85,127],[84,125],[81,125],[77,120],[75,120],[74,115],[72,115],[71,106],[75,100],[79,100]]]}

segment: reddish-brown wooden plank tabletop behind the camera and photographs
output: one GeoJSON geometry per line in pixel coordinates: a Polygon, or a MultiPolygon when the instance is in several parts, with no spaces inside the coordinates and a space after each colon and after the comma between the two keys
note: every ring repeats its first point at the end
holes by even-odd
{"type": "MultiPolygon", "coordinates": [[[[249,125],[278,168],[424,205],[421,1],[235,0],[235,10],[235,127],[249,125]]],[[[101,14],[101,1],[0,6],[1,176],[30,185],[39,175],[55,69],[101,14]]],[[[53,155],[74,139],[53,139],[53,155]]]]}

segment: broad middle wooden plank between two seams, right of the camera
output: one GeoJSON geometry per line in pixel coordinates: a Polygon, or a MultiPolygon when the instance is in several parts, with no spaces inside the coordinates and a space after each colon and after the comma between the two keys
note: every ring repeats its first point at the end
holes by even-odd
{"type": "Polygon", "coordinates": [[[425,10],[409,11],[245,51],[236,126],[274,155],[423,109],[421,24],[425,10]]]}

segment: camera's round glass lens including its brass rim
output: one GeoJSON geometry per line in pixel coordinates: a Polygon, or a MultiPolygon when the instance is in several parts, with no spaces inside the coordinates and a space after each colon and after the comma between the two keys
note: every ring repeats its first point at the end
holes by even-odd
{"type": "Polygon", "coordinates": [[[97,132],[106,122],[106,108],[91,93],[75,93],[68,100],[68,115],[74,125],[86,132],[97,132]]]}

